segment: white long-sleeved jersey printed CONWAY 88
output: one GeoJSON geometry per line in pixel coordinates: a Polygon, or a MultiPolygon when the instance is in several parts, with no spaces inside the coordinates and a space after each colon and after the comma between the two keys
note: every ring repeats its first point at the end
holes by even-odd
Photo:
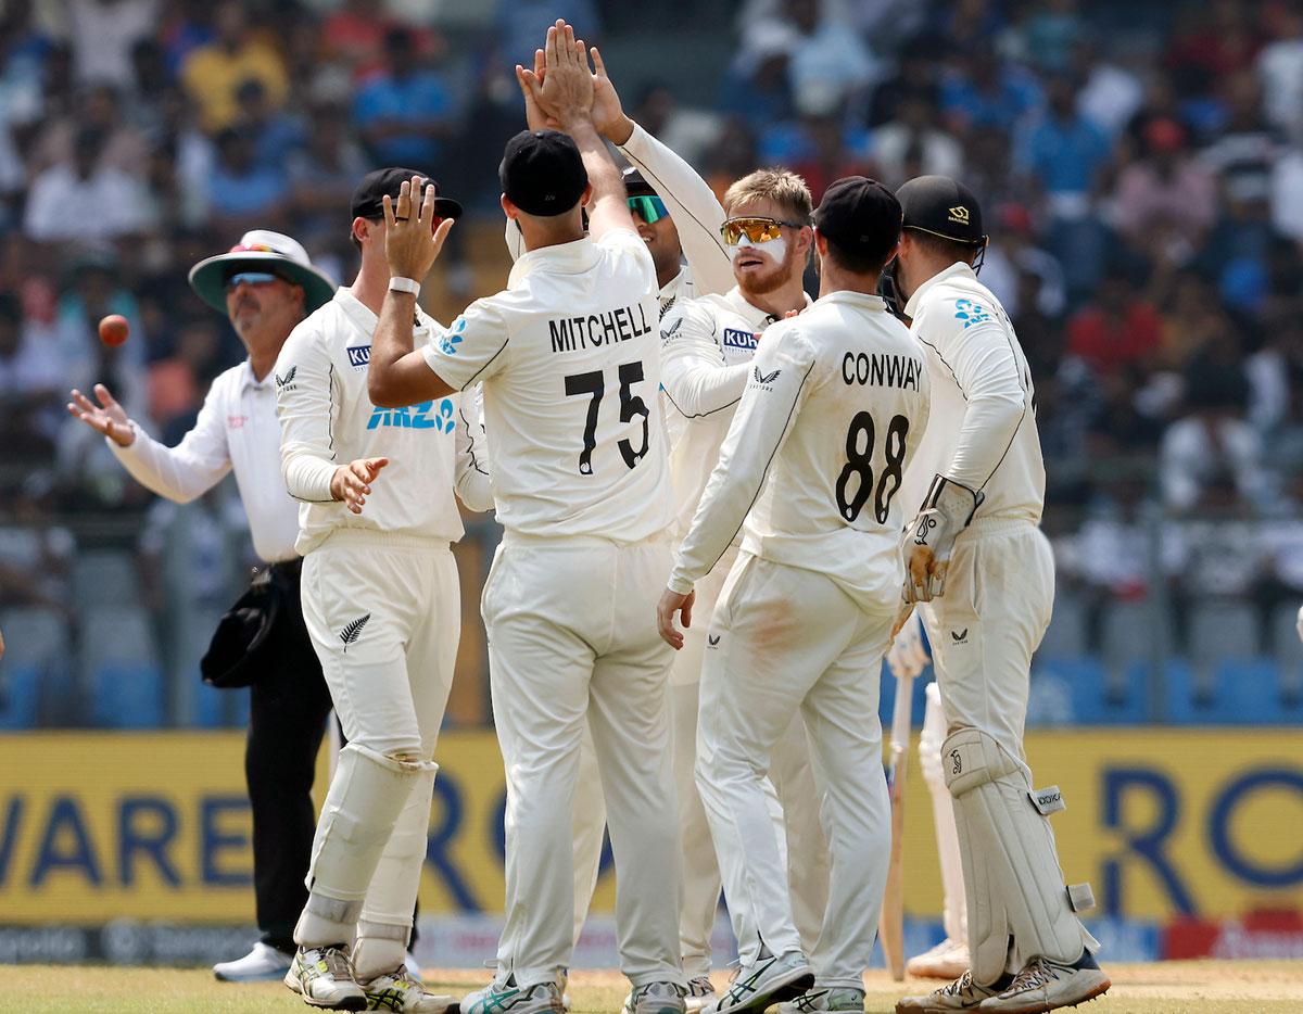
{"type": "Polygon", "coordinates": [[[670,588],[741,550],[831,577],[866,611],[899,605],[900,484],[928,422],[923,349],[877,296],[833,292],[775,323],[751,364],[670,588]]]}

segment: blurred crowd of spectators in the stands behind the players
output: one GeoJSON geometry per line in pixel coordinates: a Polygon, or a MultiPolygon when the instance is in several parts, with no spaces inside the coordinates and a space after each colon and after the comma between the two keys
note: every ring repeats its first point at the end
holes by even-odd
{"type": "MultiPolygon", "coordinates": [[[[66,414],[68,390],[107,383],[179,441],[242,355],[189,266],[274,228],[351,280],[348,194],[380,164],[466,205],[427,287],[435,315],[499,288],[511,68],[555,17],[721,193],[780,163],[816,202],[848,173],[946,173],[979,194],[981,279],[1032,364],[1059,566],[1033,721],[1298,721],[1303,4],[1287,0],[5,0],[0,628],[16,644],[25,624],[38,675],[7,659],[0,721],[240,719],[195,675],[248,577],[238,503],[155,500],[66,414]],[[96,338],[107,313],[132,322],[121,348],[96,338]]],[[[450,714],[474,723],[496,529],[468,521],[450,714]]]]}

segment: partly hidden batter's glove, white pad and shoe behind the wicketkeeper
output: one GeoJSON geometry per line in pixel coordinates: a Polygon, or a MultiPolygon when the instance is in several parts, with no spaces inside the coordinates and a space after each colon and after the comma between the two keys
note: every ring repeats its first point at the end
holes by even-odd
{"type": "MultiPolygon", "coordinates": [[[[896,679],[913,678],[932,661],[923,644],[917,611],[911,613],[887,652],[887,666],[896,679]]],[[[946,937],[934,948],[909,958],[906,970],[920,979],[958,979],[968,971],[968,931],[964,911],[964,869],[959,858],[955,808],[946,775],[941,769],[941,744],[946,738],[946,718],[941,713],[941,691],[936,680],[926,687],[923,730],[919,734],[919,764],[932,796],[937,856],[941,859],[941,921],[946,937]]]]}

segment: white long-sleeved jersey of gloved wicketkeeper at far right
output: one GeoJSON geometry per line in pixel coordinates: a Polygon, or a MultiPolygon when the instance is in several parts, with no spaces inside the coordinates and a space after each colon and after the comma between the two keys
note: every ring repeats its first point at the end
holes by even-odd
{"type": "Polygon", "coordinates": [[[933,476],[981,490],[977,517],[1038,523],[1045,464],[1036,391],[1005,308],[966,263],[921,284],[906,305],[932,381],[932,421],[906,474],[907,511],[933,476]]]}

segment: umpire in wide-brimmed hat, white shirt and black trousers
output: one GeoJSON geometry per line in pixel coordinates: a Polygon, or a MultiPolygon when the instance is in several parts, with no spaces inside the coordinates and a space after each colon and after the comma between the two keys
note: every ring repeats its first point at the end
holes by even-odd
{"type": "Polygon", "coordinates": [[[317,821],[311,787],[331,710],[298,602],[298,504],[280,478],[280,425],[272,366],[289,332],[330,302],[335,285],[306,250],[278,232],[246,232],[238,246],[190,270],[199,297],[231,318],[249,352],[218,377],[180,444],[164,447],[126,417],[103,384],[93,403],[72,392],[68,411],[103,433],[132,476],[186,503],[235,471],[254,549],[268,566],[223,620],[205,678],[250,689],[245,777],[253,809],[254,894],[261,940],[212,971],[227,981],[279,979],[294,953],[294,921],[308,899],[304,875],[317,821]]]}

